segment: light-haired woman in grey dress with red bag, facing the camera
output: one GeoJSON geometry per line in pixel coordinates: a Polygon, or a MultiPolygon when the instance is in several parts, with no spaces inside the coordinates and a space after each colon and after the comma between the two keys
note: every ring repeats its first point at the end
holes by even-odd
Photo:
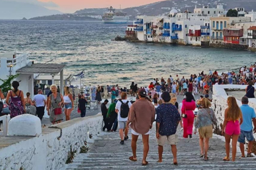
{"type": "Polygon", "coordinates": [[[62,94],[57,92],[58,87],[52,84],[50,87],[52,94],[49,96],[47,105],[48,115],[50,116],[50,122],[52,124],[61,123],[63,120],[62,106],[64,99],[62,94]]]}

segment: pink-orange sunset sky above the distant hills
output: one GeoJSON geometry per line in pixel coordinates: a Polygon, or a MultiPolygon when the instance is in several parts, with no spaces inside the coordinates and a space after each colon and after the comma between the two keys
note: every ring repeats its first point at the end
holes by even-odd
{"type": "MultiPolygon", "coordinates": [[[[33,1],[33,0],[30,0],[33,1]]],[[[37,1],[37,0],[35,0],[37,1]]],[[[38,0],[44,3],[49,3],[49,0],[38,0]]],[[[155,3],[164,0],[51,0],[49,9],[58,9],[63,13],[74,13],[77,10],[84,8],[108,8],[113,6],[113,8],[129,8],[133,6],[140,6],[144,4],[155,3]],[[56,4],[54,6],[53,4],[56,4]]]]}

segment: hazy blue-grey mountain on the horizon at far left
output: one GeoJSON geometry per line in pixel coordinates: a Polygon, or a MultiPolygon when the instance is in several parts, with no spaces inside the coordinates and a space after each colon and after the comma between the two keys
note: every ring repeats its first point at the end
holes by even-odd
{"type": "Polygon", "coordinates": [[[22,19],[35,16],[46,16],[51,14],[61,14],[58,10],[51,10],[30,3],[20,3],[16,1],[0,0],[0,19],[22,19]]]}

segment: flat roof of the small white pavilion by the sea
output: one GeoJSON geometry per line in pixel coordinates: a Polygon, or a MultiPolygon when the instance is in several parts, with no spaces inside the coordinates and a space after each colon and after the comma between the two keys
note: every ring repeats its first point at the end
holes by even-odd
{"type": "Polygon", "coordinates": [[[32,64],[27,65],[25,67],[22,67],[21,69],[18,69],[17,73],[23,73],[23,74],[58,74],[61,72],[64,67],[66,67],[65,64],[32,64]]]}

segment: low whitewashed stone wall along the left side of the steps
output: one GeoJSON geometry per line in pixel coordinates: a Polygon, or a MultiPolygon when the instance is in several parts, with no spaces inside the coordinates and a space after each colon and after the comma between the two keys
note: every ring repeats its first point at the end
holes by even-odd
{"type": "MultiPolygon", "coordinates": [[[[0,169],[61,169],[68,159],[70,149],[80,152],[80,147],[88,141],[89,134],[94,137],[102,128],[102,116],[76,118],[59,123],[54,127],[62,129],[62,137],[58,140],[61,130],[49,128],[39,137],[21,140],[13,145],[0,149],[0,169]]],[[[9,137],[8,140],[17,138],[9,137]]]]}

